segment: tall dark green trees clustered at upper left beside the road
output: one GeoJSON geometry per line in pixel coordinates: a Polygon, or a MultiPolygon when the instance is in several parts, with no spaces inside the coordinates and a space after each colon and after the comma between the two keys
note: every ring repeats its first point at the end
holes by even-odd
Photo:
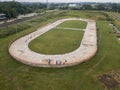
{"type": "Polygon", "coordinates": [[[19,3],[19,2],[0,2],[0,13],[6,14],[6,17],[16,18],[19,14],[34,12],[36,9],[44,9],[45,4],[41,3],[19,3]]]}

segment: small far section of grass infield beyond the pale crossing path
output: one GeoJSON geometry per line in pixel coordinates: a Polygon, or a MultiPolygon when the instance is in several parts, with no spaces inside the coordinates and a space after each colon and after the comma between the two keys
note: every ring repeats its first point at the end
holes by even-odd
{"type": "Polygon", "coordinates": [[[70,21],[65,21],[64,23],[58,25],[58,27],[85,29],[86,25],[87,22],[84,21],[70,20],[70,21]]]}

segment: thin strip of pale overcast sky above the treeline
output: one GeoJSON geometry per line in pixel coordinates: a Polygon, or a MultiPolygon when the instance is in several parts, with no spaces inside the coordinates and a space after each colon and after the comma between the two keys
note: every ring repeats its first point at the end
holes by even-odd
{"type": "MultiPolygon", "coordinates": [[[[0,0],[0,1],[12,1],[12,0],[0,0]]],[[[15,0],[19,2],[46,2],[46,0],[15,0]]],[[[48,0],[49,2],[116,2],[120,3],[120,0],[48,0]]]]}

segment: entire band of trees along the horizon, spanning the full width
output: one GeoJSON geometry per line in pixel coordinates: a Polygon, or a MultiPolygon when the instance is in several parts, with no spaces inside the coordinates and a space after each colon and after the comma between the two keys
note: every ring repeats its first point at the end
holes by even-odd
{"type": "Polygon", "coordinates": [[[0,13],[6,17],[16,18],[19,14],[40,12],[43,9],[62,10],[106,10],[120,12],[120,4],[117,3],[20,3],[16,1],[0,2],[0,13]],[[73,4],[73,5],[72,5],[73,4]]]}

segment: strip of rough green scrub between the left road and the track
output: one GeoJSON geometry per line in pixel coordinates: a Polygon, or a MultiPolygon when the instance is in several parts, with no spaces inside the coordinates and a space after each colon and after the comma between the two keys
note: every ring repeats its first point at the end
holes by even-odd
{"type": "Polygon", "coordinates": [[[48,19],[55,19],[63,15],[63,11],[53,12],[44,14],[44,16],[40,16],[37,19],[30,20],[28,22],[23,22],[15,25],[7,25],[4,28],[0,28],[0,38],[7,37],[9,35],[13,35],[15,33],[24,31],[26,29],[30,29],[31,27],[40,26],[41,23],[48,21],[48,19]],[[54,16],[54,17],[51,17],[54,16]]]}

